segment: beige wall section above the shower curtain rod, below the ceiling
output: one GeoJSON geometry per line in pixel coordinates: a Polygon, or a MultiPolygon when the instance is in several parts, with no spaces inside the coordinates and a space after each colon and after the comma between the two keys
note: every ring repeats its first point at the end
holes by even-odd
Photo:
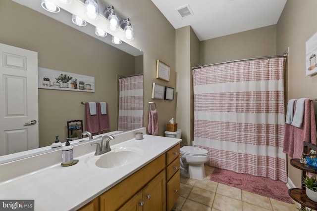
{"type": "Polygon", "coordinates": [[[275,55],[276,25],[202,41],[200,65],[275,55]]]}

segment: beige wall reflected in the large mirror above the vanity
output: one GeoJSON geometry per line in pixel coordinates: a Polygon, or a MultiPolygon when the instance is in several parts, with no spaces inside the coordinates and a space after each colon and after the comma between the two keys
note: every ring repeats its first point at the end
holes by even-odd
{"type": "Polygon", "coordinates": [[[95,77],[95,92],[38,89],[39,147],[56,135],[65,142],[67,121],[85,119],[82,101],[107,102],[109,131],[118,130],[117,79],[142,75],[143,53],[124,42],[120,50],[12,0],[0,4],[0,43],[38,52],[39,67],[95,77]]]}

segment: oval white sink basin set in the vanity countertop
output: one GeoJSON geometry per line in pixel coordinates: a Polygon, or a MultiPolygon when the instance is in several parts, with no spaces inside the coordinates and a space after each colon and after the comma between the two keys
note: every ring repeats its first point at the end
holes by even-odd
{"type": "Polygon", "coordinates": [[[131,164],[141,158],[143,151],[136,147],[117,147],[104,155],[91,156],[88,165],[112,169],[131,164]]]}

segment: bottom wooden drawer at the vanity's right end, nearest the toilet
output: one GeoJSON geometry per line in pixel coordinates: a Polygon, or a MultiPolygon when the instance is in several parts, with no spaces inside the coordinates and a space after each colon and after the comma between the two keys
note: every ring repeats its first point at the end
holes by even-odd
{"type": "Polygon", "coordinates": [[[180,174],[179,170],[166,183],[166,205],[167,211],[170,211],[180,195],[180,174]]]}

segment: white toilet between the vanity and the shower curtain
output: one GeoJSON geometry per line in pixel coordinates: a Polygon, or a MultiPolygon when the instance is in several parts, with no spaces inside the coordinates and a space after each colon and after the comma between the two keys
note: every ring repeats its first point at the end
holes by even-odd
{"type": "MultiPolygon", "coordinates": [[[[181,132],[181,129],[175,132],[165,131],[165,136],[180,138],[181,132]]],[[[206,177],[204,163],[209,160],[208,151],[199,147],[183,146],[180,148],[180,153],[183,154],[180,158],[180,174],[194,179],[204,179],[206,177]]]]}

